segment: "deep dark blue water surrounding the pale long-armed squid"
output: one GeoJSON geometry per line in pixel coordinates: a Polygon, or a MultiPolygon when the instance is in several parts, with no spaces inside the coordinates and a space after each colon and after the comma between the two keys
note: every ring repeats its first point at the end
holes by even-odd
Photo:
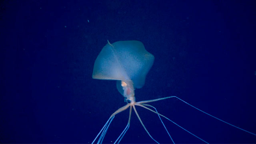
{"type": "MultiPolygon", "coordinates": [[[[155,56],[137,101],[178,96],[256,133],[254,0],[4,0],[0,2],[0,143],[91,143],[124,106],[112,80],[92,79],[107,44],[139,40],[155,56]]],[[[151,103],[209,143],[256,136],[172,98],[151,103]]],[[[150,134],[172,143],[158,116],[136,107],[150,134]]],[[[128,122],[117,114],[103,143],[128,122]]],[[[175,143],[203,143],[162,118],[175,143]]],[[[121,143],[155,143],[134,111],[121,143]]]]}

